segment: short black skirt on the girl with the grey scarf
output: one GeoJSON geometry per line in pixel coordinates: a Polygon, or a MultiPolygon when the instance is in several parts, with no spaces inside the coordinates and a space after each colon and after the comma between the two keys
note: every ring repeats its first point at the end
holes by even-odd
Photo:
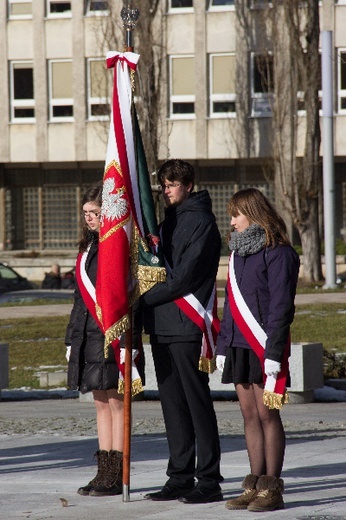
{"type": "Polygon", "coordinates": [[[263,383],[261,363],[252,349],[227,348],[222,383],[263,383]]]}

